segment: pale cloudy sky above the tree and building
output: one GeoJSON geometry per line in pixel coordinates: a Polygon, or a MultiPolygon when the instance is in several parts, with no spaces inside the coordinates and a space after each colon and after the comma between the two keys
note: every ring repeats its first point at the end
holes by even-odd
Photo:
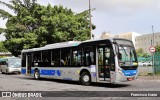
{"type": "MultiPolygon", "coordinates": [[[[89,9],[89,0],[37,1],[45,6],[63,5],[71,8],[75,13],[89,9]]],[[[0,8],[9,11],[2,5],[0,8]]],[[[150,34],[152,26],[154,32],[160,32],[160,0],[91,0],[91,8],[95,9],[92,11],[92,23],[96,25],[96,29],[92,33],[96,39],[102,32],[150,34]]],[[[0,19],[0,27],[5,27],[5,22],[6,20],[0,19]]]]}

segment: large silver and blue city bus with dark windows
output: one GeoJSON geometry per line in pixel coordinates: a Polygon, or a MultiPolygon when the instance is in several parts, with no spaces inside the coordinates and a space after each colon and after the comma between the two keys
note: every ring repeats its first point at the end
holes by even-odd
{"type": "Polygon", "coordinates": [[[22,74],[83,85],[114,84],[135,80],[138,61],[134,45],[127,39],[69,41],[22,50],[22,74]]]}

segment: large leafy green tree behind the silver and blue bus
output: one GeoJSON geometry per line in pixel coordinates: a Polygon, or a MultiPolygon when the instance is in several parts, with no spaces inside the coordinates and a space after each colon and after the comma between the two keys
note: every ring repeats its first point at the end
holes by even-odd
{"type": "Polygon", "coordinates": [[[15,13],[0,9],[0,17],[8,19],[6,29],[0,28],[1,33],[6,33],[4,45],[15,56],[22,49],[90,37],[88,10],[74,13],[61,5],[42,6],[36,0],[12,0],[11,4],[0,1],[0,4],[15,13]]]}

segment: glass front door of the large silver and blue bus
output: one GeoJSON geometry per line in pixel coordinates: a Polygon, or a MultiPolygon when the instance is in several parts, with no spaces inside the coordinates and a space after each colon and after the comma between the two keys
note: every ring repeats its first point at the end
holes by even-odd
{"type": "Polygon", "coordinates": [[[115,79],[112,73],[114,73],[113,68],[113,55],[110,46],[108,47],[98,47],[98,79],[99,81],[112,82],[115,79]]]}

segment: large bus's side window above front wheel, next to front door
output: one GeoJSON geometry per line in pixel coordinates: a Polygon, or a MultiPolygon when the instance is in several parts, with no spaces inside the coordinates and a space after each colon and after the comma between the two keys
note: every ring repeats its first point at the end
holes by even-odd
{"type": "Polygon", "coordinates": [[[93,46],[83,48],[83,65],[95,65],[95,48],[93,46]]]}

